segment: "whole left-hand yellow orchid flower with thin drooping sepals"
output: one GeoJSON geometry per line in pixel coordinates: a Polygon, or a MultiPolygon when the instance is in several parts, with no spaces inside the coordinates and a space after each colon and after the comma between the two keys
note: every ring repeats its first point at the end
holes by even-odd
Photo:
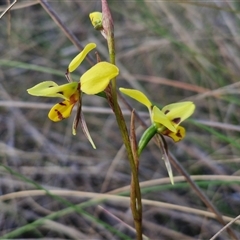
{"type": "MultiPolygon", "coordinates": [[[[89,43],[69,64],[66,76],[71,80],[69,74],[76,70],[86,55],[96,47],[95,43],[89,43]]],[[[73,123],[73,134],[76,135],[76,127],[80,120],[84,134],[96,148],[88,132],[86,122],[81,112],[81,92],[86,94],[98,94],[105,90],[112,78],[119,74],[118,68],[108,62],[99,62],[86,71],[80,78],[80,82],[69,82],[58,85],[53,81],[44,81],[27,90],[30,95],[42,97],[60,97],[64,101],[54,105],[49,111],[48,117],[58,122],[71,115],[72,109],[78,103],[77,115],[73,123]]]]}

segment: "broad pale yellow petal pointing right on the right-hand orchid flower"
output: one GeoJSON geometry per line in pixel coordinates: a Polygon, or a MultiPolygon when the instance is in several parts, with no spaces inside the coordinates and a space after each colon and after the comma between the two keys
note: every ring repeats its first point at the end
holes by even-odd
{"type": "Polygon", "coordinates": [[[182,121],[190,117],[194,110],[195,105],[193,102],[172,103],[162,109],[175,126],[178,126],[182,121]]]}

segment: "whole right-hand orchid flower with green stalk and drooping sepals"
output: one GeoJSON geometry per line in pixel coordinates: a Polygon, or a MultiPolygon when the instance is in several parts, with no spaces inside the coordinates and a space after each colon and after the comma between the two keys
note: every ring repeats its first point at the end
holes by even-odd
{"type": "Polygon", "coordinates": [[[170,181],[174,184],[172,168],[168,158],[167,143],[163,135],[172,138],[175,142],[180,141],[185,136],[185,129],[179,126],[179,124],[192,115],[195,105],[192,102],[180,102],[169,104],[160,110],[141,91],[126,88],[120,88],[120,91],[142,103],[149,110],[152,125],[145,130],[139,140],[138,155],[141,154],[149,141],[155,137],[159,148],[162,150],[162,159],[165,162],[170,181]]]}

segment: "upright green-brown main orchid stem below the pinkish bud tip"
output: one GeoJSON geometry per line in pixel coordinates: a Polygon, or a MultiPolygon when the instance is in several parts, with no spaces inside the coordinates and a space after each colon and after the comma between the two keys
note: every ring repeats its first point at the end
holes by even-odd
{"type": "MultiPolygon", "coordinates": [[[[115,44],[114,44],[114,34],[111,31],[107,36],[107,43],[109,49],[109,58],[110,63],[115,64],[115,44]]],[[[117,87],[116,87],[116,78],[111,81],[111,96],[112,96],[112,107],[116,116],[118,127],[121,132],[121,136],[126,147],[128,160],[132,172],[132,182],[131,182],[131,210],[134,218],[134,225],[137,232],[137,239],[142,240],[142,198],[141,191],[139,186],[138,171],[137,166],[134,161],[134,155],[131,148],[131,142],[129,139],[129,134],[126,126],[125,119],[122,114],[122,110],[119,107],[117,101],[117,87]]]]}

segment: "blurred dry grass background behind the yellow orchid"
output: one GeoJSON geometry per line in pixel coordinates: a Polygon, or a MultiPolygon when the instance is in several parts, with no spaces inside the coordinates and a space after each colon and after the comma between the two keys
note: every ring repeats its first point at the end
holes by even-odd
{"type": "MultiPolygon", "coordinates": [[[[10,1],[0,3],[3,12],[10,1]]],[[[100,0],[48,3],[83,46],[95,42],[101,59],[108,59],[106,42],[88,16],[101,11],[100,0]]],[[[237,217],[240,3],[112,0],[109,5],[118,86],[143,90],[160,107],[181,100],[196,104],[183,123],[186,137],[176,144],[167,139],[168,148],[226,222],[237,217]]],[[[79,50],[34,0],[17,1],[0,19],[0,37],[0,236],[134,239],[129,199],[120,196],[128,196],[129,163],[106,101],[83,98],[93,150],[80,128],[72,136],[73,116],[60,123],[48,119],[56,99],[26,92],[44,80],[65,83],[68,63],[79,50]],[[97,202],[103,193],[105,200],[97,202]]],[[[89,67],[84,61],[74,80],[89,67]]],[[[128,101],[147,122],[146,109],[128,101]]],[[[129,111],[121,106],[129,123],[129,111]]],[[[139,138],[144,130],[136,126],[139,138]]],[[[209,239],[223,226],[176,170],[175,185],[169,184],[161,157],[152,141],[140,159],[144,234],[209,239]]],[[[238,238],[239,225],[231,226],[238,238]]],[[[226,231],[218,237],[229,238],[226,231]]]]}

